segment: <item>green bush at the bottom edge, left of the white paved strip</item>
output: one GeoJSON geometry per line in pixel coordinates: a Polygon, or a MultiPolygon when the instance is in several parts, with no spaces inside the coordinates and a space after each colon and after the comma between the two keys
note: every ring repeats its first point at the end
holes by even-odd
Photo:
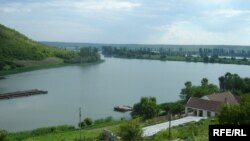
{"type": "Polygon", "coordinates": [[[140,127],[140,121],[134,119],[120,125],[119,136],[123,141],[141,141],[142,130],[140,127]]]}

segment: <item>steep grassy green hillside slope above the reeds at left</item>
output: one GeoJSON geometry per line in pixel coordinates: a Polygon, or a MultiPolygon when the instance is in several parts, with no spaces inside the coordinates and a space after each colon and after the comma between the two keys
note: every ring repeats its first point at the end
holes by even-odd
{"type": "Polygon", "coordinates": [[[1,24],[0,43],[0,71],[25,67],[24,61],[38,63],[37,61],[44,61],[47,58],[57,58],[56,62],[63,62],[63,60],[69,60],[77,55],[73,51],[33,41],[25,35],[1,24]]]}

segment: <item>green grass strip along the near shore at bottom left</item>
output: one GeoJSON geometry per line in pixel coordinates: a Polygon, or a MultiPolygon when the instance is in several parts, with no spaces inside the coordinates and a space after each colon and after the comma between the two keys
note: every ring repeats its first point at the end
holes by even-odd
{"type": "Polygon", "coordinates": [[[33,131],[9,133],[9,141],[75,141],[79,139],[80,132],[85,141],[96,140],[104,129],[117,133],[119,126],[125,120],[109,121],[85,127],[82,130],[71,126],[58,126],[35,129],[33,131]],[[63,129],[62,129],[63,128],[63,129]]]}

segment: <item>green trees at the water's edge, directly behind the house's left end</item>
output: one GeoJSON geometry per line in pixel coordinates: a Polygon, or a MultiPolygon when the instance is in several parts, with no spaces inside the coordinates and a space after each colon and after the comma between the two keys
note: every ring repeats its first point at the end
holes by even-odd
{"type": "Polygon", "coordinates": [[[181,89],[180,98],[187,101],[191,96],[202,97],[215,92],[218,92],[218,87],[214,84],[209,84],[208,79],[203,78],[200,86],[193,86],[190,81],[187,81],[185,88],[181,89]]]}

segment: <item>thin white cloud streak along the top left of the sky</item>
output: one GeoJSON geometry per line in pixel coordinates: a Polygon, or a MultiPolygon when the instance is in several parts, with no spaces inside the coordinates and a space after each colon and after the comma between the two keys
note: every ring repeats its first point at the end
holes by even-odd
{"type": "Polygon", "coordinates": [[[69,11],[128,11],[140,7],[137,2],[125,0],[52,0],[34,1],[30,3],[13,2],[0,4],[0,12],[29,12],[31,10],[69,10],[69,11]]]}

